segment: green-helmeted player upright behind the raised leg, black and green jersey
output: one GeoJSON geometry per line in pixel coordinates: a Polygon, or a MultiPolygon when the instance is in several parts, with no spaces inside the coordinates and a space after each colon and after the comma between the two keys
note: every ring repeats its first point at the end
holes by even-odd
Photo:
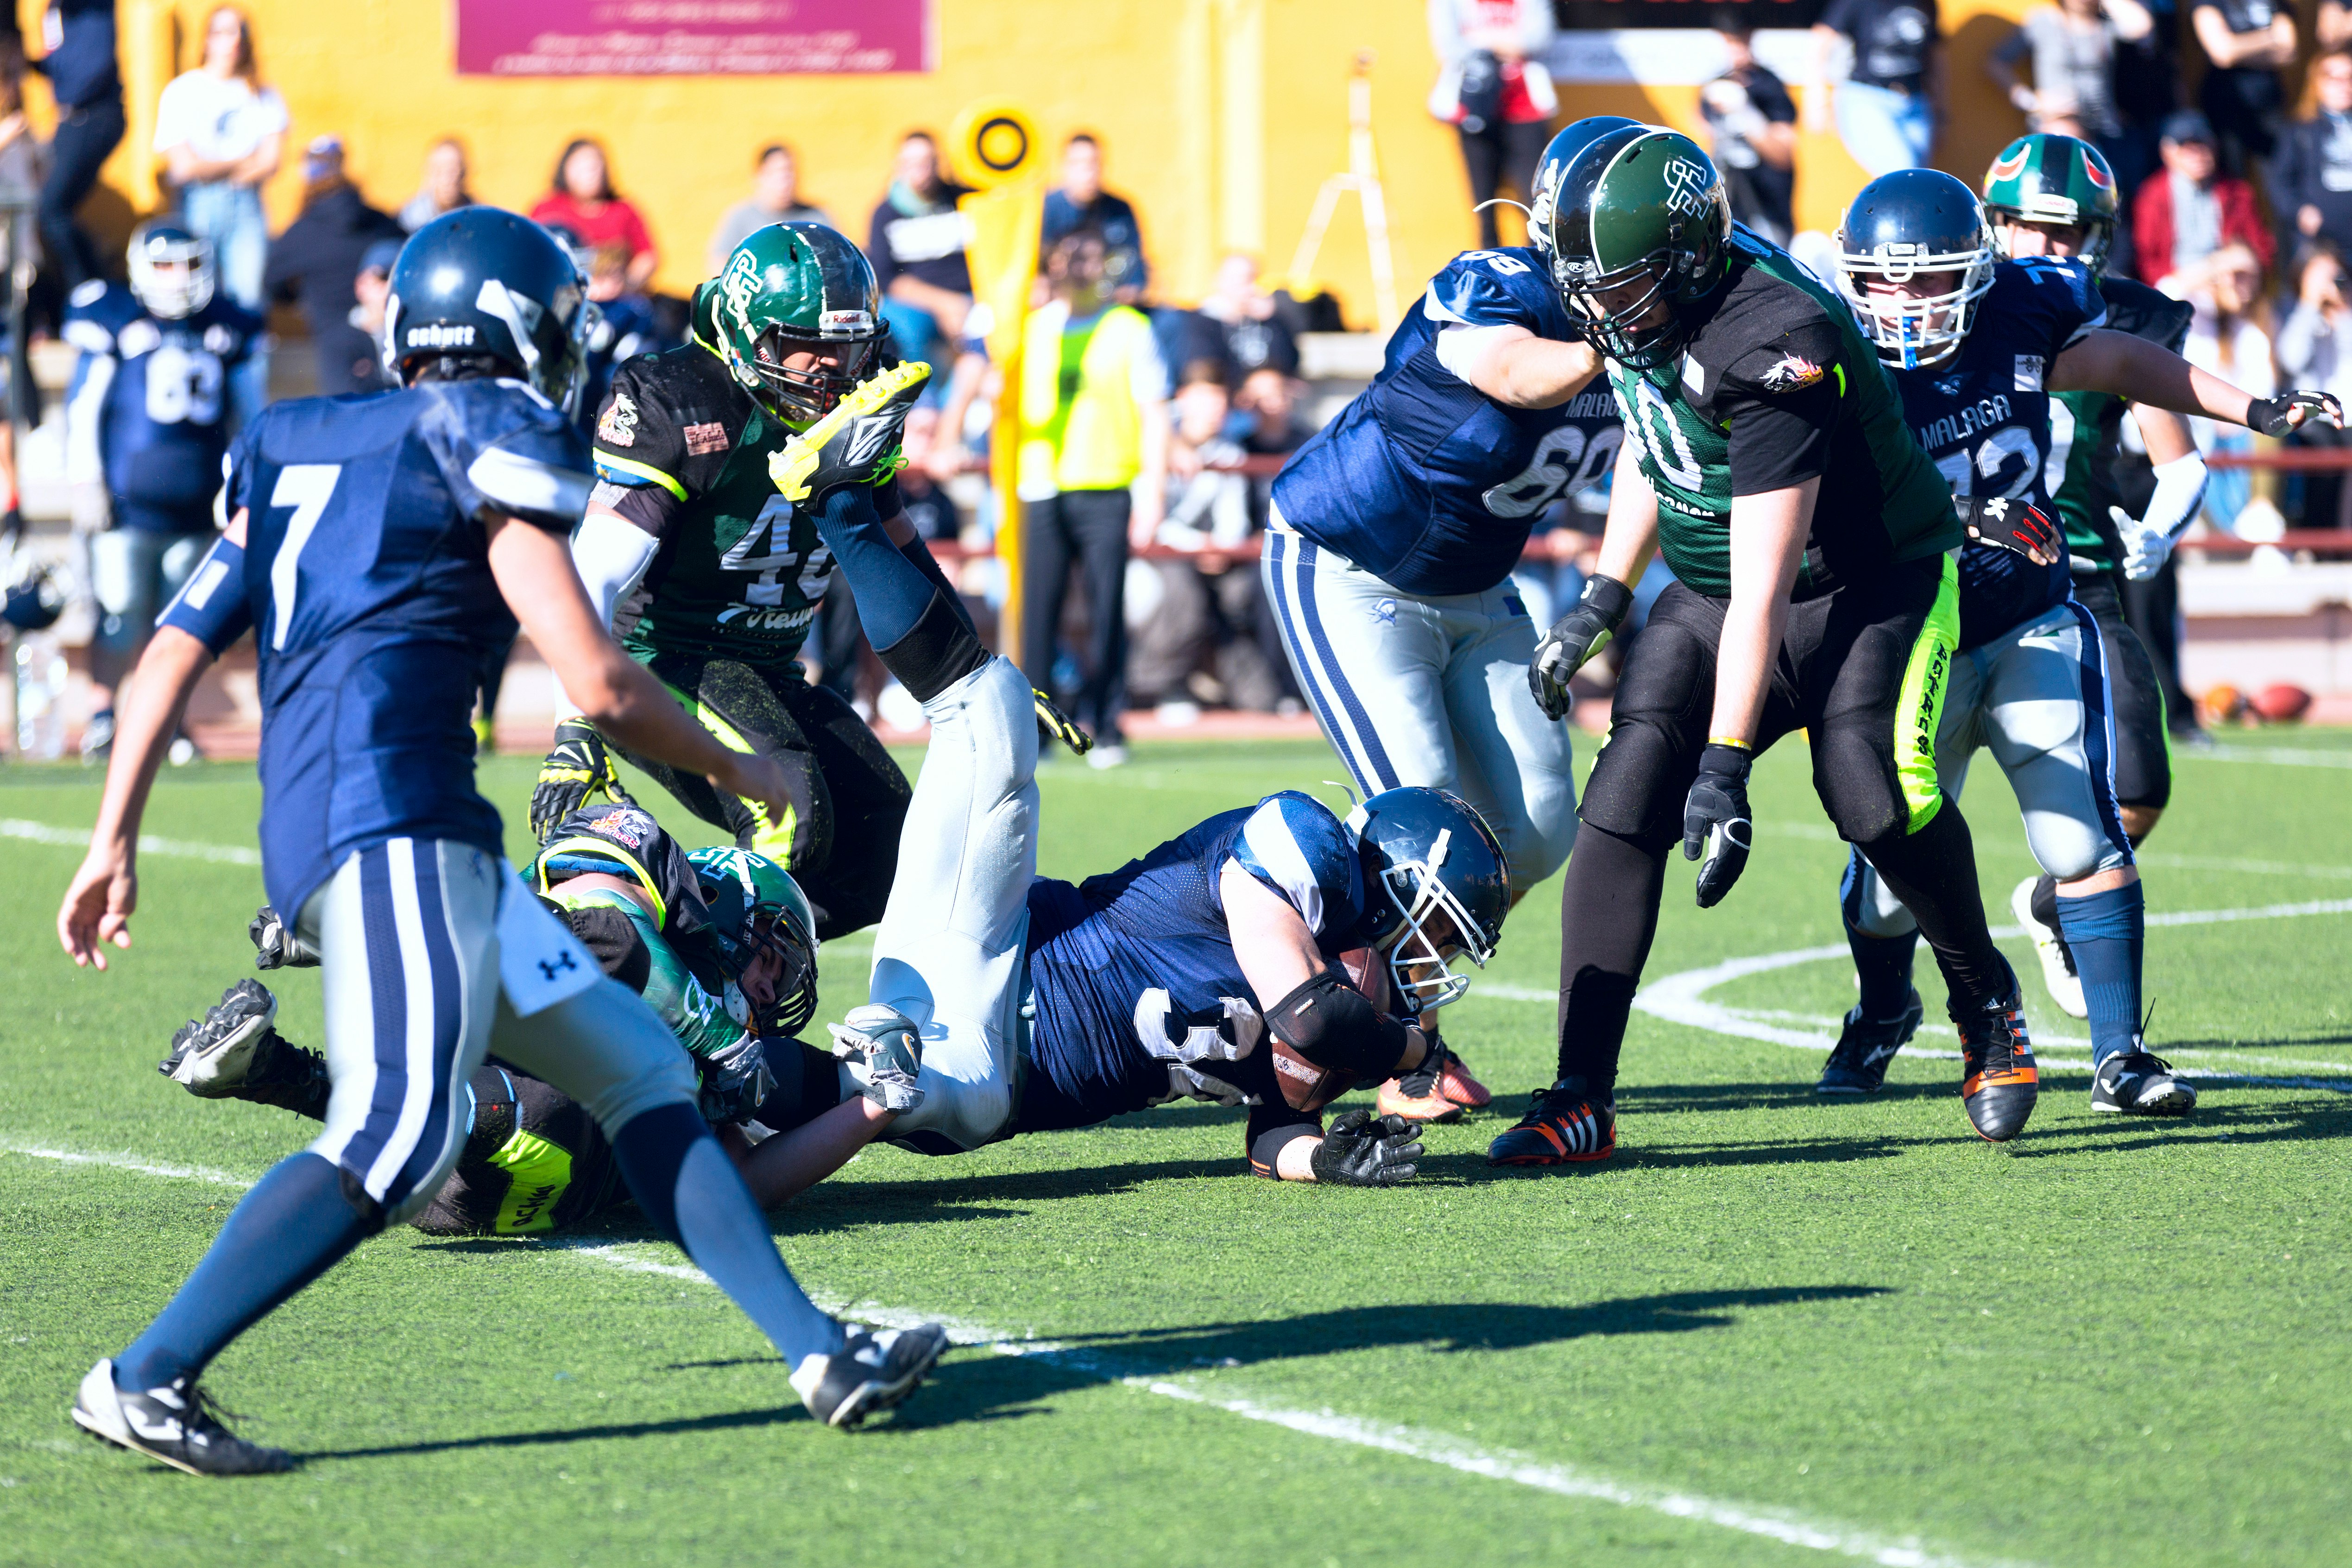
{"type": "MultiPolygon", "coordinates": [[[[776,494],[767,461],[882,355],[880,289],[856,244],[823,223],[753,233],[696,289],[691,341],[614,374],[595,425],[597,487],[572,541],[621,644],[722,743],[781,762],[793,809],[769,827],[703,778],[621,755],[790,870],[818,938],[880,919],[908,783],[856,710],[802,675],[833,555],[776,494]]],[[[884,520],[903,512],[896,461],[891,440],[868,477],[884,520]]],[[[628,799],[604,741],[567,717],[532,795],[532,830],[546,837],[600,792],[628,799]]]]}

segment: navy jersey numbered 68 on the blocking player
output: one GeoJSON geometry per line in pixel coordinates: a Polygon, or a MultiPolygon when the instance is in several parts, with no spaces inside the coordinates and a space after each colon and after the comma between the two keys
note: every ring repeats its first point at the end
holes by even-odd
{"type": "Polygon", "coordinates": [[[1609,473],[1623,425],[1599,376],[1555,409],[1463,381],[1458,350],[1482,327],[1576,336],[1534,249],[1456,256],[1388,339],[1381,376],[1275,480],[1282,522],[1414,595],[1510,576],[1545,508],[1609,473]]]}

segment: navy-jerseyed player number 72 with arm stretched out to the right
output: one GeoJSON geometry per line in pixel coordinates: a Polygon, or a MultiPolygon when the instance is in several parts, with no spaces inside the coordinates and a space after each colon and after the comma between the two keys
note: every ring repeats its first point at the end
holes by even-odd
{"type": "MultiPolygon", "coordinates": [[[[2105,329],[2082,261],[2004,261],[1983,205],[1936,169],[1863,186],[1839,233],[1839,284],[1903,393],[1912,435],[1962,501],[1959,654],[1936,733],[1943,790],[1990,748],[2056,879],[2058,926],[2082,969],[2100,1112],[2180,1114],[2197,1093],[2140,1039],[2140,872],[2114,799],[2114,724],[2098,623],[2072,595],[2051,517],[2051,397],[2093,390],[2284,435],[2343,423],[2324,393],[2253,397],[2143,336],[2105,329]]],[[[1823,1093],[1865,1093],[1919,1023],[1917,926],[1856,853],[1844,886],[1863,997],[1823,1093]]]]}

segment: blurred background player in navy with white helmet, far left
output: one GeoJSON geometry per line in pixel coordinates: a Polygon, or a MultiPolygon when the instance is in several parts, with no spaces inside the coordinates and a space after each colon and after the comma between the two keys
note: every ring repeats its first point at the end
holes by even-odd
{"type": "Polygon", "coordinates": [[[113,745],[115,686],[212,543],[223,388],[261,336],[259,315],[214,292],[212,244],[176,223],[132,235],[129,277],[127,289],[85,282],[64,324],[82,350],[66,388],[66,480],[75,527],[103,529],[89,541],[99,635],[85,757],[113,745]]]}

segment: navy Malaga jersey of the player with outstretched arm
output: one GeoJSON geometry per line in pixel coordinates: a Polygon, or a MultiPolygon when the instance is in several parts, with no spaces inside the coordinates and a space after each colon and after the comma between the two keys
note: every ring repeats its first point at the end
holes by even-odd
{"type": "MultiPolygon", "coordinates": [[[[1992,289],[1959,353],[1943,364],[1893,369],[1903,418],[1955,496],[2049,498],[2051,362],[2105,324],[2091,270],[2079,261],[2030,256],[1992,268],[1992,289]]],[[[2065,604],[2065,552],[2034,567],[2016,550],[1971,543],[1959,552],[1959,646],[1973,649],[2065,604]]]]}

